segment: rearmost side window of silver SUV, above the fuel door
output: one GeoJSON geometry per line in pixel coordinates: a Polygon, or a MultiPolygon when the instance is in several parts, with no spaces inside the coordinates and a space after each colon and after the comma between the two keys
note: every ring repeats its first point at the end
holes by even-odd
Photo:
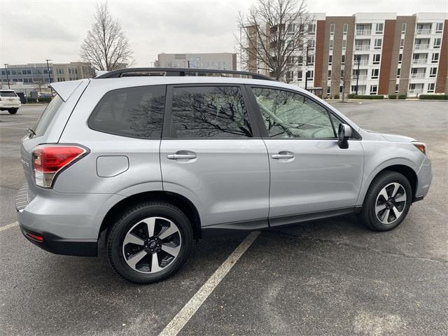
{"type": "Polygon", "coordinates": [[[160,139],[165,85],[126,87],[107,92],[94,108],[92,130],[123,137],[160,139]]]}

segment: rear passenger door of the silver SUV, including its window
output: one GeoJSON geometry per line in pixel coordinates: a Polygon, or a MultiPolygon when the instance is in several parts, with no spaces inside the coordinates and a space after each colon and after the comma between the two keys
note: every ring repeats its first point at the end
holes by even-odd
{"type": "Polygon", "coordinates": [[[203,228],[267,227],[267,149],[246,102],[243,85],[167,87],[163,189],[193,202],[203,228]]]}

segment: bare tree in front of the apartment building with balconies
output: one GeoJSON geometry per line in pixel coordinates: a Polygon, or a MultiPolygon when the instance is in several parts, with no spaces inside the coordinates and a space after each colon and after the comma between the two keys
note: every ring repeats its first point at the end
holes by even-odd
{"type": "Polygon", "coordinates": [[[279,80],[299,65],[305,27],[311,23],[305,0],[258,0],[237,21],[237,49],[246,69],[267,71],[279,80]]]}

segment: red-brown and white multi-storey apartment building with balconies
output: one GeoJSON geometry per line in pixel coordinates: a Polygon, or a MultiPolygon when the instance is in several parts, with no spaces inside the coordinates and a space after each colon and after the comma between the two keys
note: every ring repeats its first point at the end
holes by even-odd
{"type": "MultiPolygon", "coordinates": [[[[448,13],[314,13],[312,17],[301,28],[304,44],[283,78],[286,82],[321,87],[324,97],[341,94],[342,87],[346,94],[448,93],[448,13]]],[[[249,59],[249,71],[259,68],[255,59],[249,59]]]]}

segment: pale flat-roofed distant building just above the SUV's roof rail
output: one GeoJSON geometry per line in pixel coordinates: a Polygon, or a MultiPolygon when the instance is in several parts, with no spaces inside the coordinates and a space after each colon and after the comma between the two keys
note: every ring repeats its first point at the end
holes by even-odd
{"type": "Polygon", "coordinates": [[[158,68],[196,68],[236,70],[237,54],[232,52],[199,54],[159,54],[155,66],[158,68]]]}

